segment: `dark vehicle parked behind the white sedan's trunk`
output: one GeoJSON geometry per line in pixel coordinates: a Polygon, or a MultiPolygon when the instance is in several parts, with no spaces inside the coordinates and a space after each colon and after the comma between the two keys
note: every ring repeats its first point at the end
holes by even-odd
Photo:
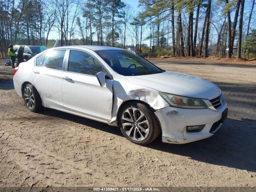
{"type": "Polygon", "coordinates": [[[13,49],[16,50],[16,62],[21,63],[30,60],[32,57],[47,48],[45,46],[36,45],[14,45],[13,49]]]}

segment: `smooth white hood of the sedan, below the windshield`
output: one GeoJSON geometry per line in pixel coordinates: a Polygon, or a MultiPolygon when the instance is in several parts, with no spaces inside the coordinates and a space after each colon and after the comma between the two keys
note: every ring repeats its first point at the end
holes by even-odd
{"type": "Polygon", "coordinates": [[[215,84],[177,72],[166,71],[151,75],[126,76],[126,78],[133,84],[180,96],[213,99],[221,94],[220,88],[215,84]]]}

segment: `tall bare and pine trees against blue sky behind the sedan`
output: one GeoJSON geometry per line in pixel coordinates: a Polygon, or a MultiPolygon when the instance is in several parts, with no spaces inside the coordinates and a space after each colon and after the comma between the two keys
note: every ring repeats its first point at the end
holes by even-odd
{"type": "Polygon", "coordinates": [[[49,39],[58,37],[59,46],[129,47],[151,56],[253,57],[254,6],[255,0],[139,0],[136,12],[122,0],[0,0],[0,49],[4,56],[10,43],[51,47],[49,39]]]}

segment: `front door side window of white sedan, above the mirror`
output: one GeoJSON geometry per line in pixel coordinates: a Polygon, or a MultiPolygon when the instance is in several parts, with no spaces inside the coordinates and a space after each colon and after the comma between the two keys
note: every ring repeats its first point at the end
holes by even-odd
{"type": "Polygon", "coordinates": [[[96,75],[96,73],[102,71],[102,66],[91,54],[71,50],[68,59],[68,71],[96,75]]]}

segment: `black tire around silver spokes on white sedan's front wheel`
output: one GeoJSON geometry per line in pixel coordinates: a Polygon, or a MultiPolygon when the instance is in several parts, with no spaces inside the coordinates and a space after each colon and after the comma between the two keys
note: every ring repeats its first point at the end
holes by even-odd
{"type": "MultiPolygon", "coordinates": [[[[134,112],[134,113],[136,113],[136,112],[134,112]]],[[[141,115],[141,114],[139,114],[139,115],[141,115]]],[[[135,101],[126,103],[126,104],[124,104],[124,106],[122,106],[122,108],[120,109],[119,115],[118,115],[118,125],[121,129],[122,134],[129,141],[131,141],[135,144],[139,144],[139,145],[150,144],[152,141],[154,141],[159,136],[159,134],[161,132],[159,122],[158,122],[154,112],[151,110],[151,108],[148,107],[147,105],[143,104],[143,103],[135,102],[135,101]],[[146,138],[144,138],[143,140],[134,140],[130,136],[128,136],[128,134],[126,134],[126,132],[128,130],[130,130],[130,127],[133,127],[133,128],[135,127],[134,122],[132,123],[133,126],[128,127],[127,130],[125,130],[122,126],[122,123],[125,122],[125,120],[122,119],[122,116],[123,116],[123,114],[127,113],[126,111],[129,108],[130,108],[130,110],[132,110],[131,108],[138,109],[136,112],[139,113],[141,111],[144,114],[144,116],[146,116],[146,120],[148,120],[148,124],[149,124],[150,129],[149,129],[149,132],[148,132],[146,138]]],[[[147,127],[147,125],[146,125],[146,127],[147,127]]],[[[134,128],[134,129],[136,129],[136,128],[134,128]]],[[[134,129],[132,129],[132,131],[135,131],[134,129]]],[[[140,128],[138,128],[138,129],[140,129],[140,128]]],[[[132,131],[130,133],[132,133],[132,131]]],[[[139,136],[141,135],[141,133],[144,133],[141,129],[140,129],[140,133],[136,132],[136,134],[138,134],[139,136]]]]}

